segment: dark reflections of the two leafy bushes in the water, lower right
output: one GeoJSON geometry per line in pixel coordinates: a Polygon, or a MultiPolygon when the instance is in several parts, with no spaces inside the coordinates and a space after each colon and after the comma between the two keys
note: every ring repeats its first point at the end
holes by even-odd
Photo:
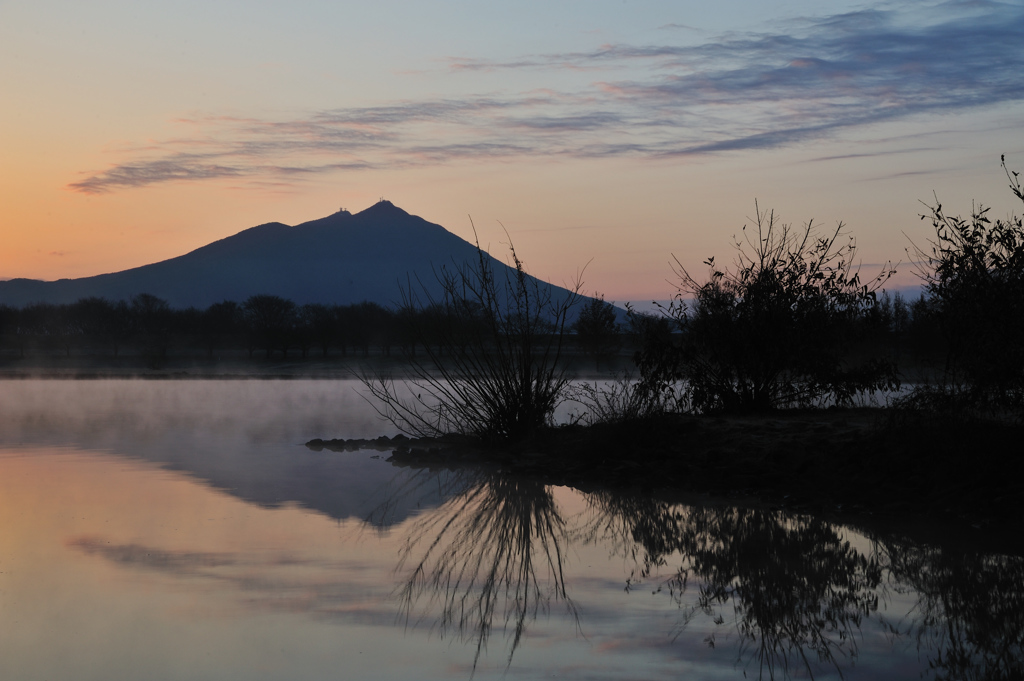
{"type": "MultiPolygon", "coordinates": [[[[697,614],[725,626],[731,605],[739,657],[756,658],[761,675],[812,672],[815,659],[842,674],[865,620],[878,616],[897,639],[916,641],[937,679],[1024,678],[1024,559],[903,540],[880,541],[864,555],[836,525],[810,517],[607,493],[591,502],[585,539],[616,542],[637,559],[641,580],[678,557],[668,591],[685,608],[683,628],[697,614]],[[692,583],[699,586],[688,599],[692,583]],[[878,612],[886,586],[918,595],[905,620],[878,612]]],[[[715,635],[707,642],[714,646],[715,635]]]]}

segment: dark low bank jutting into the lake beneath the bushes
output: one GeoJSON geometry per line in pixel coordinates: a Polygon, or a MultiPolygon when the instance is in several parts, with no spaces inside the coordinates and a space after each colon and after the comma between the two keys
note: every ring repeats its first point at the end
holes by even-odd
{"type": "Polygon", "coordinates": [[[403,436],[307,446],[373,446],[396,465],[483,466],[582,490],[711,495],[888,527],[927,520],[1015,536],[1024,520],[1013,454],[1022,435],[1013,423],[857,409],[566,426],[507,448],[403,436]]]}

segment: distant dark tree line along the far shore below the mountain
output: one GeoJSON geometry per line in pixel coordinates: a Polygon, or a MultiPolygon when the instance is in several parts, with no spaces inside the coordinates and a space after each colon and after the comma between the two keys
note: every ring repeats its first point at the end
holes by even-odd
{"type": "MultiPolygon", "coordinates": [[[[859,321],[862,337],[897,356],[933,353],[933,308],[925,297],[909,302],[887,292],[859,321]]],[[[370,301],[299,305],[281,296],[257,295],[200,309],[173,308],[146,293],[117,301],[90,297],[65,304],[0,304],[0,356],[415,356],[425,344],[451,335],[451,322],[439,307],[385,307],[370,301]]],[[[656,314],[634,313],[620,323],[614,307],[598,296],[581,307],[570,335],[573,348],[601,367],[616,356],[631,357],[644,338],[672,336],[673,331],[670,321],[656,314]]],[[[469,329],[461,333],[469,334],[469,329]]]]}

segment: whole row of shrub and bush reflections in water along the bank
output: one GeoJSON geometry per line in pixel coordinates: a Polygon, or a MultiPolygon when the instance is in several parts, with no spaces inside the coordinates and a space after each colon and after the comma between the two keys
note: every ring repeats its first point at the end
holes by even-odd
{"type": "Polygon", "coordinates": [[[965,556],[891,539],[864,553],[842,527],[810,516],[688,508],[610,492],[588,495],[591,512],[578,524],[563,520],[539,482],[495,474],[457,486],[457,496],[415,525],[399,564],[411,566],[400,596],[407,620],[426,597],[440,610],[442,634],[474,641],[474,668],[496,618],[511,664],[526,627],[552,598],[575,616],[562,561],[566,545],[582,541],[610,542],[632,556],[638,581],[678,560],[665,583],[683,610],[677,636],[707,618],[714,631],[706,642],[733,639],[738,659],[756,662],[760,677],[821,668],[842,675],[857,659],[868,621],[895,640],[916,642],[928,659],[926,676],[1024,674],[1021,558],[965,556]],[[889,621],[879,610],[887,590],[915,593],[915,608],[889,621]]]}

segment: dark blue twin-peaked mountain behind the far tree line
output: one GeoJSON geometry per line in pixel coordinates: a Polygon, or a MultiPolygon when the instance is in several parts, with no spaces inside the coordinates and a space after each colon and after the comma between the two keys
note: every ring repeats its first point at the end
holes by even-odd
{"type": "MultiPolygon", "coordinates": [[[[486,256],[500,274],[508,265],[486,256]]],[[[388,201],[289,226],[268,222],[185,255],[120,272],[43,282],[0,282],[0,304],[72,303],[97,296],[127,300],[153,294],[172,307],[206,308],[222,300],[272,294],[298,304],[392,306],[401,288],[439,296],[435,271],[473,266],[476,247],[388,201]]],[[[545,287],[551,285],[544,285],[545,287]]],[[[553,287],[564,294],[560,287],[553,287]]]]}

